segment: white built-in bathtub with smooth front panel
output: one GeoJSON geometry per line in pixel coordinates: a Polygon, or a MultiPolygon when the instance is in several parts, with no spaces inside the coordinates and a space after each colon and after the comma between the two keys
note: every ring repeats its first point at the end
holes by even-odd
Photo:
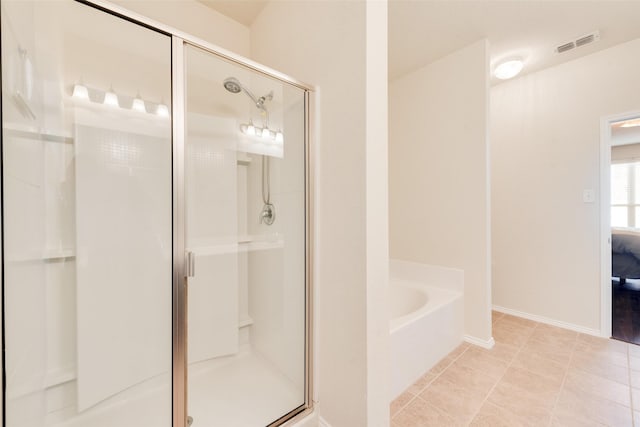
{"type": "Polygon", "coordinates": [[[392,260],[391,398],[395,399],[463,339],[461,270],[392,260]]]}

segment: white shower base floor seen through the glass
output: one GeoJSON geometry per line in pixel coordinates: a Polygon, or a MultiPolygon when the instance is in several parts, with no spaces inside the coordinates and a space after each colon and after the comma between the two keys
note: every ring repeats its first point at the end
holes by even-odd
{"type": "MultiPolygon", "coordinates": [[[[268,361],[248,350],[236,356],[199,362],[189,367],[188,414],[193,427],[264,426],[303,404],[303,390],[268,361]]],[[[50,427],[170,427],[169,388],[158,380],[139,384],[72,420],[50,427]]],[[[166,377],[162,379],[166,383],[166,377]]],[[[68,418],[69,414],[67,414],[68,418]]],[[[40,425],[40,424],[33,424],[40,425]]]]}

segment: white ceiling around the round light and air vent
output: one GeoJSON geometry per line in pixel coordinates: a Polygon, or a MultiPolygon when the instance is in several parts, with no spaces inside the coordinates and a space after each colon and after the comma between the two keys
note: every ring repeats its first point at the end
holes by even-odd
{"type": "Polygon", "coordinates": [[[389,0],[389,79],[483,38],[489,40],[492,69],[496,62],[521,56],[527,73],[638,37],[638,0],[389,0]],[[600,41],[554,52],[595,30],[600,41]]]}

